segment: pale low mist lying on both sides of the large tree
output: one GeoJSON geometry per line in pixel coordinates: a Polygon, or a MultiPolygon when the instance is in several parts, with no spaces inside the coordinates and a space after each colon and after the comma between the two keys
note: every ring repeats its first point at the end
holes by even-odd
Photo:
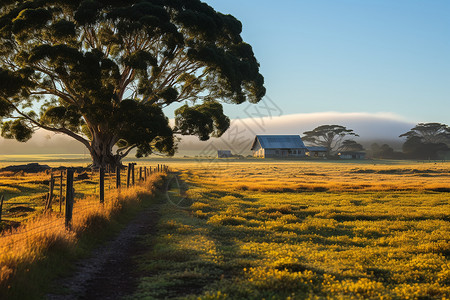
{"type": "MultiPolygon", "coordinates": [[[[400,149],[403,140],[398,136],[410,130],[415,122],[391,113],[321,112],[290,114],[279,117],[234,119],[231,127],[220,138],[199,141],[197,137],[182,136],[177,155],[215,155],[218,149],[230,149],[233,154],[248,155],[256,134],[300,134],[324,124],[343,125],[353,129],[355,138],[366,148],[370,144],[388,143],[400,149]]],[[[0,139],[0,154],[83,154],[87,150],[79,142],[61,134],[39,130],[27,143],[0,139]]]]}

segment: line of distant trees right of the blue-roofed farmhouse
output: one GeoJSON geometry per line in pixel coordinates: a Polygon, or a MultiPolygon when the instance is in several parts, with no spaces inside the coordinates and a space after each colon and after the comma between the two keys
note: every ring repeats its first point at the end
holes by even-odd
{"type": "MultiPolygon", "coordinates": [[[[363,151],[364,147],[352,137],[359,137],[353,129],[341,125],[321,125],[305,131],[303,140],[313,146],[325,147],[327,156],[336,156],[343,151],[363,151]]],[[[390,145],[370,146],[373,158],[385,159],[448,159],[450,158],[450,127],[441,123],[419,123],[399,136],[406,138],[402,151],[390,145]]]]}

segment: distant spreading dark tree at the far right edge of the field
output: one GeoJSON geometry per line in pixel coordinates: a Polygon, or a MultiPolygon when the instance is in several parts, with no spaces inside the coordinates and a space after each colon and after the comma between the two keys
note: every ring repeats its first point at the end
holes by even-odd
{"type": "Polygon", "coordinates": [[[441,123],[419,123],[400,135],[406,137],[403,153],[414,159],[440,159],[450,152],[450,127],[441,123]]]}

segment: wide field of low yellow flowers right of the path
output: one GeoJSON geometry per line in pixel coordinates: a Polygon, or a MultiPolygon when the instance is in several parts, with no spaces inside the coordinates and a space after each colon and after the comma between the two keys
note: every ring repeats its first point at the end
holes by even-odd
{"type": "Polygon", "coordinates": [[[177,169],[135,298],[450,299],[450,163],[177,169]]]}

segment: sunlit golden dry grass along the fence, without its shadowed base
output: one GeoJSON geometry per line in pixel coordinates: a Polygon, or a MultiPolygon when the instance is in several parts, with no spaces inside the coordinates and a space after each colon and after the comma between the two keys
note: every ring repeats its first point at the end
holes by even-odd
{"type": "Polygon", "coordinates": [[[147,182],[132,188],[108,191],[104,204],[93,196],[76,200],[71,230],[65,229],[61,214],[47,213],[4,232],[0,235],[0,294],[10,293],[12,288],[16,290],[12,294],[17,292],[15,285],[24,284],[21,277],[28,278],[26,273],[30,268],[44,261],[49,253],[59,253],[67,259],[73,257],[80,237],[104,227],[125,207],[136,206],[143,196],[152,195],[163,176],[153,174],[147,182]]]}

